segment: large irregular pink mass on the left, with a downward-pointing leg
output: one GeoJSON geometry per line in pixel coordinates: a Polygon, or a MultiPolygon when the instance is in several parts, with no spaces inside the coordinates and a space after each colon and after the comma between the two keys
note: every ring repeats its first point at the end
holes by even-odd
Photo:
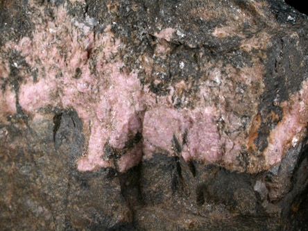
{"type": "MultiPolygon", "coordinates": [[[[88,26],[67,20],[65,7],[58,8],[55,15],[55,22],[38,24],[33,39],[24,37],[18,44],[8,44],[22,53],[28,65],[39,67],[40,78],[36,83],[31,76],[23,74],[26,78],[19,87],[19,104],[24,112],[33,115],[47,106],[74,108],[83,120],[87,139],[87,151],[78,161],[78,170],[113,166],[103,160],[104,144],[109,142],[121,149],[141,128],[139,112],[144,110],[144,105],[140,101],[137,73],[129,72],[119,58],[114,58],[122,44],[114,38],[110,26],[94,40],[88,26]],[[90,71],[89,52],[98,58],[96,75],[90,71]]],[[[4,69],[1,66],[1,72],[4,69]]],[[[15,113],[15,99],[14,103],[10,102],[15,94],[3,95],[6,99],[1,98],[1,104],[3,101],[10,106],[3,113],[15,113]]],[[[126,170],[137,164],[140,150],[140,147],[132,149],[127,154],[132,159],[126,164],[123,160],[128,157],[119,160],[119,168],[126,170]]]]}

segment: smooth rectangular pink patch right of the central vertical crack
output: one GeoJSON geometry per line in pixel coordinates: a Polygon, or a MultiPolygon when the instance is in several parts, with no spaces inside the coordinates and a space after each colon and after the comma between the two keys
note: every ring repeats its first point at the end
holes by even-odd
{"type": "Polygon", "coordinates": [[[147,110],[142,131],[144,158],[155,152],[178,155],[174,144],[176,139],[183,148],[181,155],[185,160],[219,162],[223,156],[223,140],[216,123],[218,115],[216,108],[212,107],[176,110],[161,106],[147,110]]]}

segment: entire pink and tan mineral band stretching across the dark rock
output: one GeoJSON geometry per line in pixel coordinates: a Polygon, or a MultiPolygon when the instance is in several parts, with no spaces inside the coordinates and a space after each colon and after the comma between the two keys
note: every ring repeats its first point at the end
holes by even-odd
{"type": "MultiPolygon", "coordinates": [[[[290,94],[289,100],[280,104],[283,116],[269,133],[267,147],[262,151],[256,146],[261,124],[258,100],[266,89],[264,65],[257,58],[262,54],[257,53],[250,66],[241,68],[204,61],[198,67],[203,75],[194,92],[192,83],[179,80],[167,87],[166,94],[157,95],[151,85],[163,84],[164,75],[142,85],[139,74],[144,71],[147,78],[154,78],[155,73],[166,73],[166,67],[157,65],[155,60],[169,57],[173,37],[185,36],[181,31],[162,28],[153,33],[157,43],[153,57],[140,56],[140,67],[133,69],[121,58],[126,43],[112,32],[111,25],[105,26],[103,33],[94,33],[87,24],[69,20],[64,6],[55,10],[54,17],[53,21],[38,22],[33,37],[7,42],[3,51],[19,52],[28,66],[37,70],[37,80],[33,81],[27,71],[20,69],[23,80],[18,103],[24,113],[33,117],[46,107],[74,108],[78,113],[87,146],[85,156],[77,163],[79,171],[114,166],[104,153],[108,144],[120,152],[127,149],[116,160],[121,172],[151,158],[153,153],[181,155],[187,162],[198,160],[230,170],[258,172],[281,162],[286,150],[296,146],[305,135],[307,81],[302,82],[299,92],[290,94]],[[187,92],[191,95],[187,96],[187,92]],[[176,99],[184,104],[175,107],[176,99]],[[187,101],[191,105],[185,105],[187,101]],[[126,143],[137,133],[142,134],[142,139],[127,148],[126,143]]],[[[212,32],[219,39],[235,35],[234,25],[214,28],[212,32]]],[[[271,39],[268,33],[239,37],[239,49],[243,52],[266,49],[271,39]]],[[[189,68],[186,61],[179,61],[179,70],[189,68]]],[[[21,68],[18,65],[16,68],[21,68]]],[[[9,76],[8,66],[1,58],[2,82],[9,76]]],[[[1,123],[6,123],[6,116],[16,113],[16,98],[15,91],[8,86],[0,93],[1,123]]]]}

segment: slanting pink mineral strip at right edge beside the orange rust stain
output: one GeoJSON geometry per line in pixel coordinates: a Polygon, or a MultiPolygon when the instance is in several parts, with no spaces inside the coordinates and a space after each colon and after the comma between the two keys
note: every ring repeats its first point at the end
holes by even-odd
{"type": "Polygon", "coordinates": [[[307,105],[308,80],[305,80],[302,89],[280,105],[283,108],[282,121],[271,131],[268,147],[264,151],[267,168],[280,163],[286,151],[291,146],[296,146],[307,133],[307,105]]]}

